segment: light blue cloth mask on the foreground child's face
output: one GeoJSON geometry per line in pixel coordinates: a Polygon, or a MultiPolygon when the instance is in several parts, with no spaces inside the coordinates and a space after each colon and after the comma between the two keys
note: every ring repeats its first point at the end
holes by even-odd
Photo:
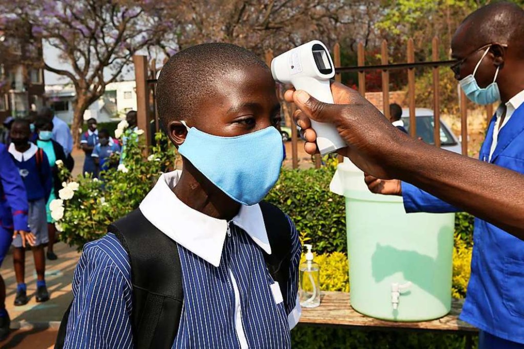
{"type": "Polygon", "coordinates": [[[213,136],[191,127],[178,152],[227,196],[250,206],[262,201],[277,183],[282,149],[282,136],[272,126],[236,137],[213,136]]]}

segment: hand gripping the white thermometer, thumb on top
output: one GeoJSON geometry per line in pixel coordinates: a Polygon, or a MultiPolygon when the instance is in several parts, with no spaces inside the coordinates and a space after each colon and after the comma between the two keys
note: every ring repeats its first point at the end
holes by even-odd
{"type": "Polygon", "coordinates": [[[310,120],[331,123],[348,145],[339,149],[339,154],[349,157],[370,175],[395,177],[385,164],[394,156],[392,151],[400,149],[410,138],[391,126],[384,115],[354,89],[332,82],[331,93],[335,104],[319,102],[304,91],[286,91],[287,102],[294,102],[299,108],[293,119],[303,130],[304,150],[309,154],[318,152],[310,120]]]}

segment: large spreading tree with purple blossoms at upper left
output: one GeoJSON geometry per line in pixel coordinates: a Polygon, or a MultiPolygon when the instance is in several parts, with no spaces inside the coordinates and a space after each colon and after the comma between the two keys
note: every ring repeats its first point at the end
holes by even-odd
{"type": "MultiPolygon", "coordinates": [[[[83,122],[84,111],[115,82],[139,51],[152,47],[167,50],[166,21],[150,0],[0,0],[4,22],[23,20],[31,36],[60,51],[60,60],[70,66],[45,61],[46,70],[71,80],[75,91],[72,129],[83,122]],[[163,44],[160,45],[160,41],[163,44]]],[[[75,144],[78,132],[73,132],[75,144]]]]}

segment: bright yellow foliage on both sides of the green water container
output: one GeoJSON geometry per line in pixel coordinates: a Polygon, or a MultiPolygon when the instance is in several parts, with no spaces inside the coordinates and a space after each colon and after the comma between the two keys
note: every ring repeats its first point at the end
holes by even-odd
{"type": "MultiPolygon", "coordinates": [[[[471,274],[472,247],[455,237],[453,250],[453,283],[452,295],[455,298],[466,296],[467,282],[471,274]]],[[[320,288],[323,291],[350,291],[349,263],[342,252],[314,254],[314,261],[320,265],[320,288]]],[[[300,263],[305,262],[302,254],[300,263]]]]}

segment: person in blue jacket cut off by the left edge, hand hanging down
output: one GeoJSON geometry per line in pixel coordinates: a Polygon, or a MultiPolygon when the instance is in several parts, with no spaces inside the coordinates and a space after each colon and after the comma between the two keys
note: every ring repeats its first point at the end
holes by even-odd
{"type": "MultiPolygon", "coordinates": [[[[4,144],[0,144],[0,266],[4,261],[13,233],[20,235],[23,246],[34,243],[27,226],[27,194],[24,183],[4,144]]],[[[5,309],[5,283],[0,275],[0,341],[9,335],[9,314],[5,309]]]]}

